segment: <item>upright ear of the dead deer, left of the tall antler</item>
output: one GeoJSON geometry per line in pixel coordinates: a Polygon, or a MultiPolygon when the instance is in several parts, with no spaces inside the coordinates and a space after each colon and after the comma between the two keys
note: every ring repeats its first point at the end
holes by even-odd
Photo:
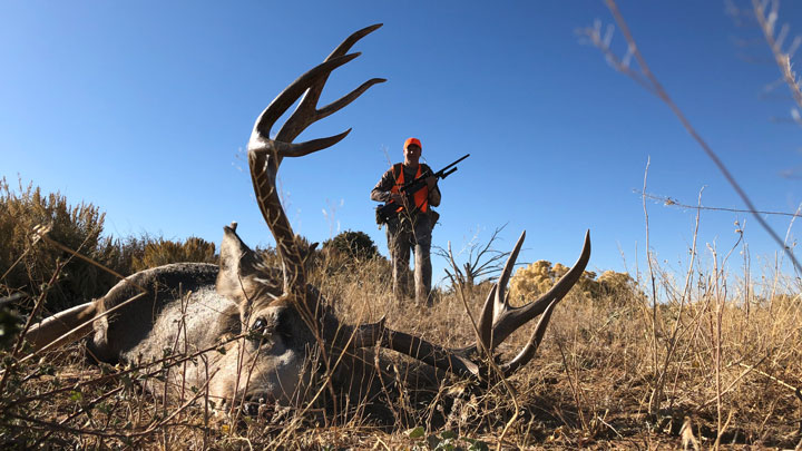
{"type": "Polygon", "coordinates": [[[255,281],[261,258],[239,239],[236,223],[223,227],[217,293],[238,303],[248,302],[256,294],[255,281]]]}

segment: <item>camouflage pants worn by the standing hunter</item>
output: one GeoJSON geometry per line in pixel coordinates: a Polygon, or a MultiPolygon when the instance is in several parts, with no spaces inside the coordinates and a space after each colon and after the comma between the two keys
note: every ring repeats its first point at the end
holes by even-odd
{"type": "Polygon", "coordinates": [[[431,305],[431,218],[418,215],[414,224],[400,217],[388,223],[388,248],[392,259],[393,294],[409,296],[410,252],[414,254],[414,297],[418,305],[431,305]]]}

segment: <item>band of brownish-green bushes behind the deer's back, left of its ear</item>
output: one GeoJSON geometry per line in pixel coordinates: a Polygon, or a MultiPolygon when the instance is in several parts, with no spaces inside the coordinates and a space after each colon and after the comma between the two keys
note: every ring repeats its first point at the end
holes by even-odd
{"type": "Polygon", "coordinates": [[[214,243],[190,237],[114,239],[102,236],[105,213],[92,204],[70,205],[60,193],[42,194],[33,184],[12,190],[0,179],[0,297],[14,296],[14,307],[29,313],[45,295],[45,312],[58,312],[102,296],[118,277],[47,241],[33,243],[33,229],[50,227],[48,237],[120,275],[176,262],[215,263],[214,243]],[[50,284],[57,267],[58,277],[50,284]]]}

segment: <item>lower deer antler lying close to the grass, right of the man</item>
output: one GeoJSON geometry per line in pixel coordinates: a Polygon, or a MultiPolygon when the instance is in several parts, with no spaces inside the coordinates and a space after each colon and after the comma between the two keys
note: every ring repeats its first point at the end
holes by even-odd
{"type": "Polygon", "coordinates": [[[555,305],[568,294],[587,266],[590,258],[590,232],[588,231],[585,235],[585,244],[577,262],[551,290],[527,305],[512,307],[509,305],[509,298],[505,291],[525,237],[526,232],[518,238],[498,282],[490,290],[482,306],[479,324],[477,325],[479,334],[476,345],[460,350],[448,350],[403,332],[387,330],[382,336],[382,346],[457,375],[487,380],[489,376],[487,365],[482,364],[481,361],[488,356],[492,359],[496,346],[512,332],[542,314],[527,345],[512,360],[501,364],[500,370],[506,378],[529,363],[546,333],[555,305]]]}

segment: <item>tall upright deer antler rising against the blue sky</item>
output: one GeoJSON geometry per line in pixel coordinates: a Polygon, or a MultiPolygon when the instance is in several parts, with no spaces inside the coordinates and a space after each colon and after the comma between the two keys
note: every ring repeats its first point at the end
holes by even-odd
{"type": "MultiPolygon", "coordinates": [[[[307,297],[305,295],[306,276],[303,266],[303,252],[295,242],[295,234],[278,198],[276,189],[278,166],[284,157],[301,157],[325,149],[339,143],[351,131],[351,129],[348,129],[326,138],[297,144],[292,143],[310,125],[344,108],[371,86],[387,81],[382,78],[373,78],[339,100],[323,108],[317,108],[317,100],[329,79],[329,75],[334,69],[356,58],[360,53],[345,53],[356,41],[379,27],[381,27],[381,23],[354,32],[323,63],[307,71],[286,87],[260,115],[251,134],[248,165],[256,202],[276,241],[276,251],[282,262],[284,276],[284,292],[294,295],[296,298],[307,297]],[[275,121],[301,96],[304,97],[295,111],[278,130],[275,138],[271,138],[271,129],[275,121]]],[[[314,308],[311,308],[311,311],[314,311],[314,308]]]]}

